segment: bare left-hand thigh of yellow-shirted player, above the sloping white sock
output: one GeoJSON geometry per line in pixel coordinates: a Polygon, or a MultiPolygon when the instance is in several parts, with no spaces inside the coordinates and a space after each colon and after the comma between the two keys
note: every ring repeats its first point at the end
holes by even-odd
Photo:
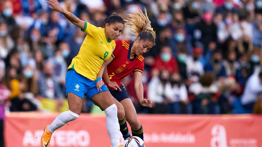
{"type": "Polygon", "coordinates": [[[83,98],[73,94],[72,92],[68,92],[67,101],[69,110],[80,115],[83,105],[83,98]]]}

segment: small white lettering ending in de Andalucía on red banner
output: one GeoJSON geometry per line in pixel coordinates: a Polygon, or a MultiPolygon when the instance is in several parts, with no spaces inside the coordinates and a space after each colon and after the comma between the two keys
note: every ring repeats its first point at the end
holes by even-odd
{"type": "Polygon", "coordinates": [[[194,144],[196,142],[195,135],[187,132],[182,134],[177,133],[144,133],[144,142],[145,143],[185,143],[185,144],[194,144]]]}

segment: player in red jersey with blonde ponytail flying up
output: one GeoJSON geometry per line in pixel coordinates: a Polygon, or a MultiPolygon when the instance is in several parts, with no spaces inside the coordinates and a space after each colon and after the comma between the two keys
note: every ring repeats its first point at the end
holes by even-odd
{"type": "MultiPolygon", "coordinates": [[[[110,93],[115,98],[114,102],[118,107],[118,120],[123,138],[130,137],[125,121],[127,120],[131,126],[132,135],[144,139],[143,128],[137,118],[136,110],[121,80],[133,72],[134,88],[140,104],[152,107],[151,100],[144,99],[143,96],[142,72],[144,69],[144,57],[142,54],[149,51],[155,45],[155,32],[151,28],[151,22],[147,17],[146,9],[145,13],[139,10],[134,14],[129,14],[128,19],[125,21],[125,26],[130,27],[133,31],[132,33],[137,35],[137,38],[134,42],[126,40],[116,41],[116,48],[112,57],[105,64],[108,64],[111,60],[112,62],[107,67],[102,66],[102,68],[105,68],[103,81],[105,81],[105,85],[109,87],[110,93]]],[[[98,88],[102,84],[102,81],[99,81],[97,83],[98,88]]]]}

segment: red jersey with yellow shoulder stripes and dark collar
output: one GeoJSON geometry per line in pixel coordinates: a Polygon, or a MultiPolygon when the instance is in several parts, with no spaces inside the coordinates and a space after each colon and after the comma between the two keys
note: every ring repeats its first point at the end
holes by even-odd
{"type": "MultiPolygon", "coordinates": [[[[126,40],[117,40],[116,48],[112,53],[112,57],[114,58],[111,63],[107,65],[107,72],[109,79],[117,83],[120,87],[121,80],[125,78],[131,72],[143,72],[144,70],[144,57],[142,55],[135,56],[134,59],[130,59],[130,52],[133,45],[133,42],[129,42],[126,40]]],[[[105,80],[103,79],[105,82],[105,80]]],[[[113,88],[108,87],[109,90],[114,90],[113,88]]]]}

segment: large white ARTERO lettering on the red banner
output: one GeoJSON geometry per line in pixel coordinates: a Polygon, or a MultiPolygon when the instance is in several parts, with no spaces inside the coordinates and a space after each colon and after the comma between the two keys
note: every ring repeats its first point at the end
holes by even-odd
{"type": "MultiPolygon", "coordinates": [[[[39,146],[43,130],[34,132],[26,130],[23,146],[39,146]]],[[[52,135],[50,146],[89,146],[90,135],[86,130],[56,130],[52,135]]]]}

